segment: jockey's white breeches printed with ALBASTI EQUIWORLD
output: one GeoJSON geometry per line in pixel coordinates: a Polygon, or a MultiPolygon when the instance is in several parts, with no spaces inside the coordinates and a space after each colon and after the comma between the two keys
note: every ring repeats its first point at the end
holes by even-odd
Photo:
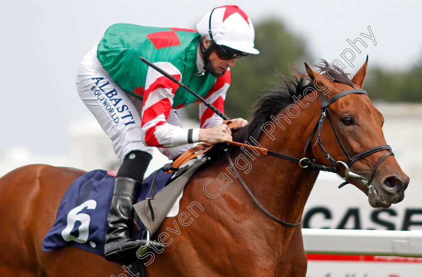
{"type": "MultiPolygon", "coordinates": [[[[143,143],[141,134],[142,100],[127,94],[102,68],[96,57],[95,46],[82,59],[76,77],[79,97],[91,111],[102,130],[109,135],[113,148],[121,162],[134,150],[152,155],[153,149],[143,143]]],[[[167,123],[182,127],[174,110],[167,123]]],[[[169,159],[174,159],[192,147],[191,144],[173,148],[158,148],[169,159]]]]}

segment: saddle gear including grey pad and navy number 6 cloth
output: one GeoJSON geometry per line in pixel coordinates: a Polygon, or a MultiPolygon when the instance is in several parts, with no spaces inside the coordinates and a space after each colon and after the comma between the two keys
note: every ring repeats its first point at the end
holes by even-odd
{"type": "MultiPolygon", "coordinates": [[[[185,184],[207,161],[200,154],[212,147],[198,144],[167,165],[167,174],[159,169],[144,179],[145,186],[138,196],[140,202],[134,205],[140,220],[136,220],[138,232],[134,236],[137,239],[143,236],[139,232],[142,224],[153,235],[167,216],[178,214],[185,184]]],[[[55,223],[44,237],[43,251],[71,245],[103,255],[114,180],[115,177],[107,171],[98,169],[81,175],[70,184],[60,201],[55,223]]]]}

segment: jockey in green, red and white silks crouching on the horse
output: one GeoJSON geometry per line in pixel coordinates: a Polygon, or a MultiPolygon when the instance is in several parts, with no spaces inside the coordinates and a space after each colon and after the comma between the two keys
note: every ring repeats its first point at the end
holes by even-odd
{"type": "MultiPolygon", "coordinates": [[[[104,256],[123,261],[145,245],[131,237],[133,204],[152,158],[152,147],[174,159],[192,143],[231,140],[216,114],[199,104],[200,129],[183,129],[176,109],[197,99],[153,68],[151,61],[224,113],[223,103],[235,60],[258,54],[254,29],[237,6],[209,11],[195,30],[111,26],[83,59],[76,86],[80,98],[110,136],[122,162],[110,212],[104,256]]],[[[234,119],[241,126],[247,121],[234,119]]]]}

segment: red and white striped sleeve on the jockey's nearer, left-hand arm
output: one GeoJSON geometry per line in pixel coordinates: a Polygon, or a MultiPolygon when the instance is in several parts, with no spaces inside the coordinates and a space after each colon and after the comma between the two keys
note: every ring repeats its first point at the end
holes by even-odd
{"type": "MultiPolygon", "coordinates": [[[[169,62],[154,63],[170,75],[181,80],[180,71],[169,62]]],[[[149,68],[145,82],[144,102],[142,105],[142,137],[145,145],[156,147],[175,147],[188,143],[188,130],[167,123],[173,104],[174,93],[178,88],[158,71],[149,68]]],[[[193,138],[197,140],[198,130],[193,138]]]]}

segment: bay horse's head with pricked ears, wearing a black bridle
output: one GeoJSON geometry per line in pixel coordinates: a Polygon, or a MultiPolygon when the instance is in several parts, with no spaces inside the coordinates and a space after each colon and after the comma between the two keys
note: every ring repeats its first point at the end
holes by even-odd
{"type": "Polygon", "coordinates": [[[330,67],[320,74],[306,65],[307,75],[322,91],[325,114],[320,118],[325,124],[321,124],[321,131],[315,127],[312,138],[312,145],[319,143],[321,147],[313,147],[312,154],[320,162],[334,164],[340,175],[368,196],[372,207],[385,208],[403,200],[409,177],[386,145],[381,130],[383,116],[362,90],[367,63],[368,59],[349,84],[331,81],[330,67]]]}

